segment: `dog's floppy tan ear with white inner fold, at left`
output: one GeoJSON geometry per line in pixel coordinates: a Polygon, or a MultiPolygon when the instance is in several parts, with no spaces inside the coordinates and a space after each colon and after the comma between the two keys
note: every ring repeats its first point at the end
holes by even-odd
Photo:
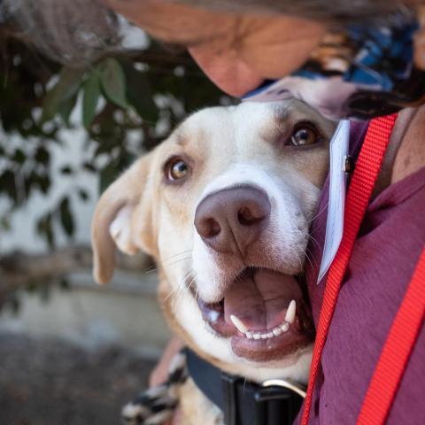
{"type": "Polygon", "coordinates": [[[143,202],[146,193],[151,154],[139,158],[120,178],[104,191],[91,223],[93,275],[98,283],[112,279],[116,247],[129,255],[151,251],[151,203],[143,202]],[[132,222],[142,222],[135,235],[132,222]]]}

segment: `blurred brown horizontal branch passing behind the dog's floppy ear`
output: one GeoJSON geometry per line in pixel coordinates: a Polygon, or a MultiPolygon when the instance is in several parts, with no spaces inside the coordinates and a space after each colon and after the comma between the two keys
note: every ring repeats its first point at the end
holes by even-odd
{"type": "MultiPolygon", "coordinates": [[[[142,271],[151,267],[145,254],[128,257],[117,255],[117,268],[142,271]]],[[[0,258],[0,305],[14,290],[25,289],[37,283],[50,282],[76,270],[91,269],[92,251],[89,246],[75,245],[45,254],[27,254],[15,251],[0,258]]]]}

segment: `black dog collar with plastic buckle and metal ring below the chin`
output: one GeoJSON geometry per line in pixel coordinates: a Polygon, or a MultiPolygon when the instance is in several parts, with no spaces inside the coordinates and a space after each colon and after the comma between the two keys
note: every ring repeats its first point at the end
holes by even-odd
{"type": "Polygon", "coordinates": [[[190,377],[224,413],[226,425],[291,425],[305,398],[305,389],[283,380],[262,385],[228,375],[187,349],[190,377]]]}

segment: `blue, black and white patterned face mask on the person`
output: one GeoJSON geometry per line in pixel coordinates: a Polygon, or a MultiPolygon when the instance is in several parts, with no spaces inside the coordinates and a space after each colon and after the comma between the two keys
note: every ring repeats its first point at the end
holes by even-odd
{"type": "Polygon", "coordinates": [[[425,100],[425,72],[413,61],[413,12],[381,27],[367,24],[330,33],[297,72],[267,81],[243,100],[297,97],[328,118],[370,119],[425,100]]]}

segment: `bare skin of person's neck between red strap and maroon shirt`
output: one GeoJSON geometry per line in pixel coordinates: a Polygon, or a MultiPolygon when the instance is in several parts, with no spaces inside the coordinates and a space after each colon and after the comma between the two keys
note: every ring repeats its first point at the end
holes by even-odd
{"type": "Polygon", "coordinates": [[[425,166],[425,106],[398,113],[373,197],[425,166]]]}

